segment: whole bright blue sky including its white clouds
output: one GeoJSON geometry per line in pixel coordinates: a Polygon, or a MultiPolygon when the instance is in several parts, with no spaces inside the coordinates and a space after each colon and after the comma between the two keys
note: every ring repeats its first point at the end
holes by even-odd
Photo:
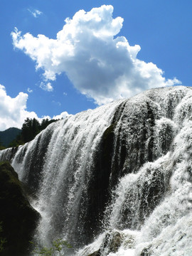
{"type": "Polygon", "coordinates": [[[191,86],[191,10],[191,0],[1,0],[0,130],[191,86]]]}

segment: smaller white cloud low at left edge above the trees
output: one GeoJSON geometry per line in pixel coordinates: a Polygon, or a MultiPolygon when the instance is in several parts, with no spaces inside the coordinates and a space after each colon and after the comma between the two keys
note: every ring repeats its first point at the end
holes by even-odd
{"type": "MultiPolygon", "coordinates": [[[[27,117],[36,118],[39,122],[43,118],[50,119],[49,116],[39,118],[35,112],[26,110],[28,95],[24,92],[19,92],[14,98],[6,94],[4,85],[0,85],[0,131],[4,131],[9,127],[21,128],[27,117]]],[[[61,119],[68,116],[68,112],[62,112],[53,119],[61,119]]]]}

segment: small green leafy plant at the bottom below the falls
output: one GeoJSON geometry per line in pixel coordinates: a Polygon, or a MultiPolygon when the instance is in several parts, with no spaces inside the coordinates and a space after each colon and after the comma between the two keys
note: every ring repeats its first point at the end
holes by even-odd
{"type": "MultiPolygon", "coordinates": [[[[33,242],[31,243],[33,244],[33,242]]],[[[72,248],[72,246],[65,240],[57,239],[52,242],[52,247],[36,247],[33,253],[38,256],[61,256],[61,250],[63,247],[72,248]]]]}

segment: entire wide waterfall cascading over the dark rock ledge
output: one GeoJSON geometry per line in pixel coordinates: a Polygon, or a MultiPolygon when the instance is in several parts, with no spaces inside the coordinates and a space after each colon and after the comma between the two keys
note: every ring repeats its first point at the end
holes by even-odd
{"type": "Polygon", "coordinates": [[[0,151],[36,194],[34,239],[68,240],[68,255],[192,255],[191,106],[190,87],[149,90],[0,151]]]}

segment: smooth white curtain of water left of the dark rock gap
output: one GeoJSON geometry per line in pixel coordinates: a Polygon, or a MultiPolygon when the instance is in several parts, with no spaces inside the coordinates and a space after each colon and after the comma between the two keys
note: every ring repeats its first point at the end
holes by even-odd
{"type": "Polygon", "coordinates": [[[64,121],[63,127],[59,123],[58,127],[54,127],[43,166],[43,183],[37,206],[41,213],[46,213],[46,218],[38,227],[41,240],[47,240],[52,221],[60,221],[60,216],[55,220],[55,210],[64,215],[65,226],[60,233],[62,238],[73,237],[80,225],[83,215],[83,212],[78,215],[80,200],[82,193],[86,194],[86,183],[92,175],[92,154],[102,132],[110,125],[117,105],[119,102],[95,111],[82,112],[64,121]]]}

